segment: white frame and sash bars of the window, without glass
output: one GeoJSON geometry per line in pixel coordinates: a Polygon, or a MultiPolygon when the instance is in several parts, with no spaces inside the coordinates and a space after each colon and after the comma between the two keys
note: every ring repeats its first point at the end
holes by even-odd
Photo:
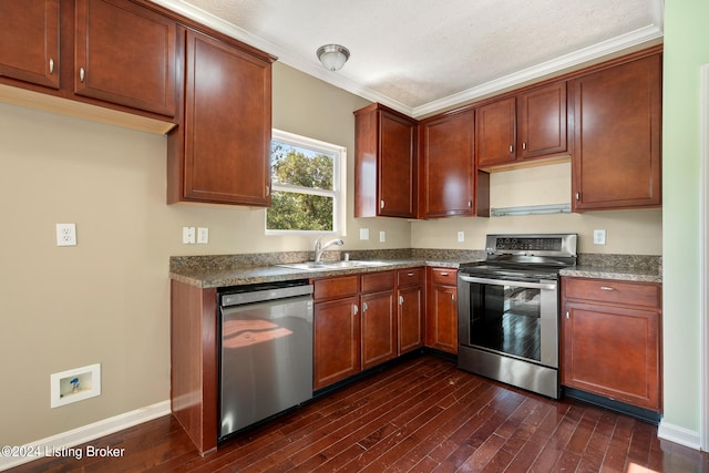
{"type": "Polygon", "coordinates": [[[274,192],[299,192],[312,195],[323,195],[332,197],[332,230],[271,230],[267,228],[268,209],[264,213],[264,228],[266,235],[346,235],[346,207],[347,207],[347,148],[345,146],[309,138],[307,136],[297,135],[295,133],[284,132],[281,130],[271,130],[271,142],[279,142],[292,146],[312,150],[323,154],[333,156],[332,162],[332,189],[311,189],[308,187],[292,186],[288,184],[275,184],[271,182],[271,193],[274,192]]]}

